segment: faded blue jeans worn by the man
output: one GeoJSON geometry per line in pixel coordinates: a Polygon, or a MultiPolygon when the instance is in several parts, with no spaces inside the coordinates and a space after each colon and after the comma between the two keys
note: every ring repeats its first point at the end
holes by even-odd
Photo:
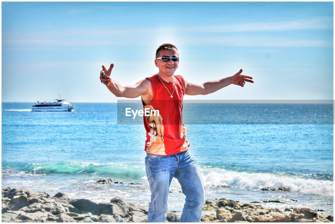
{"type": "Polygon", "coordinates": [[[173,177],[178,180],[186,196],[179,222],[200,222],[205,202],[204,185],[198,162],[189,150],[167,156],[147,154],[145,171],[151,191],[148,222],[165,222],[167,197],[173,177]]]}

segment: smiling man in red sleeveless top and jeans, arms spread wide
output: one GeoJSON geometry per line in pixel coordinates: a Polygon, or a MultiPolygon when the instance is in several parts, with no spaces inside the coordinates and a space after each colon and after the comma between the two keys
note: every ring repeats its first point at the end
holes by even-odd
{"type": "Polygon", "coordinates": [[[252,77],[235,75],[203,84],[192,83],[175,75],[179,52],[175,45],[162,44],[156,50],[158,74],[143,79],[133,86],[122,86],[112,80],[114,64],[107,70],[102,66],[100,81],[117,97],[141,96],[143,108],[158,110],[159,115],[143,116],[147,140],[145,142],[145,170],[151,191],[148,222],[165,222],[167,197],[172,178],[180,183],[186,196],[180,222],[200,222],[204,205],[204,187],[197,161],[189,152],[186,128],[183,125],[183,97],[213,93],[230,84],[244,87],[253,83],[252,77]]]}

